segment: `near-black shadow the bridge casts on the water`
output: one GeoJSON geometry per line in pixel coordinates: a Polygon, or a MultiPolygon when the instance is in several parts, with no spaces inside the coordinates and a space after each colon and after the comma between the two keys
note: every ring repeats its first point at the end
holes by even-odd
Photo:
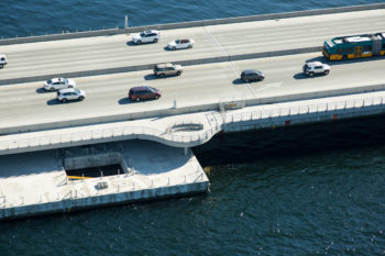
{"type": "Polygon", "coordinates": [[[202,166],[255,164],[385,145],[385,115],[224,133],[193,151],[202,166]]]}

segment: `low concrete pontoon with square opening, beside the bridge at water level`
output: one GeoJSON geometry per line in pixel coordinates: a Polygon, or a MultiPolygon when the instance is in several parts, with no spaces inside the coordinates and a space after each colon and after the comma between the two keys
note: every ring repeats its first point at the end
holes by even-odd
{"type": "MultiPolygon", "coordinates": [[[[190,149],[185,155],[183,148],[136,140],[113,147],[128,164],[123,174],[77,180],[67,177],[63,165],[81,167],[85,160],[75,154],[54,149],[0,156],[0,220],[208,191],[208,178],[190,149]]],[[[102,151],[94,153],[101,159],[102,151]]],[[[119,154],[105,154],[101,160],[114,163],[119,154]]]]}

